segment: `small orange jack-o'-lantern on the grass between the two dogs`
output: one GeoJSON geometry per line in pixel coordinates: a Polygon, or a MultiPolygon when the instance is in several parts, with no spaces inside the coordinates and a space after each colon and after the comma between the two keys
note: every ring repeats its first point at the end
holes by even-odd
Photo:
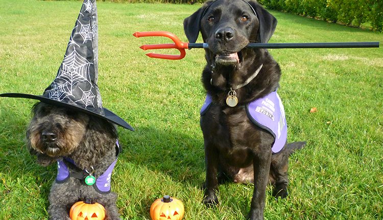
{"type": "Polygon", "coordinates": [[[152,220],[181,220],[184,213],[182,202],[169,195],[157,199],[150,207],[152,220]]]}

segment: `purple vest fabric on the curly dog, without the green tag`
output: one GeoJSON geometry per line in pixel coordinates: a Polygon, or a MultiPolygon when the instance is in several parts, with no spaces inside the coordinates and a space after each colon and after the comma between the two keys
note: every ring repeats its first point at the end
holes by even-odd
{"type": "MultiPolygon", "coordinates": [[[[116,149],[117,149],[117,156],[118,156],[118,153],[119,153],[118,140],[116,141],[116,149]]],[[[57,161],[57,177],[56,177],[57,183],[65,183],[66,181],[68,181],[70,176],[69,169],[64,163],[64,160],[73,165],[76,165],[74,161],[71,160],[70,158],[64,158],[57,161]]],[[[112,179],[111,178],[112,172],[113,172],[114,166],[116,165],[116,162],[117,162],[117,158],[112,164],[110,164],[108,169],[106,169],[105,172],[96,179],[95,183],[93,184],[93,187],[96,191],[100,193],[110,192],[110,182],[112,179]]]]}

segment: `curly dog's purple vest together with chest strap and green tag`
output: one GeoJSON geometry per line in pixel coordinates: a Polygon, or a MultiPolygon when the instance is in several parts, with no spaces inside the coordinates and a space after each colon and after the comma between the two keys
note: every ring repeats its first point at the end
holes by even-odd
{"type": "Polygon", "coordinates": [[[92,185],[94,189],[102,194],[109,193],[110,192],[110,182],[111,182],[111,175],[114,169],[114,166],[117,162],[117,157],[119,152],[121,151],[121,148],[118,144],[118,140],[116,141],[116,159],[115,161],[109,165],[109,167],[105,170],[103,174],[101,174],[99,177],[95,178],[92,175],[92,172],[88,172],[86,169],[82,171],[69,171],[68,166],[65,164],[65,162],[73,164],[77,167],[73,159],[64,157],[63,159],[57,161],[57,177],[56,177],[56,183],[65,183],[69,180],[69,177],[73,177],[79,180],[84,181],[87,185],[92,185]]]}

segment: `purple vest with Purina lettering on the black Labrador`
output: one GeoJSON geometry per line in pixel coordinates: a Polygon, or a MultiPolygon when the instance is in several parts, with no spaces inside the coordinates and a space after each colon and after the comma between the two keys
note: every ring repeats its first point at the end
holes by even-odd
{"type": "MultiPolygon", "coordinates": [[[[211,101],[211,96],[207,94],[201,108],[201,116],[209,110],[211,101]]],[[[275,138],[271,148],[273,153],[281,151],[287,141],[287,123],[284,108],[277,92],[272,92],[265,97],[248,103],[246,113],[250,121],[273,135],[275,138]]]]}

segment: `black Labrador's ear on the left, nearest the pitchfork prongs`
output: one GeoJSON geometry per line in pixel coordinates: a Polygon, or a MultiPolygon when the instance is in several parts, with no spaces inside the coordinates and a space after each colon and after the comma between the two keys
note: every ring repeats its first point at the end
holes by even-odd
{"type": "Polygon", "coordinates": [[[190,43],[195,43],[197,41],[201,29],[202,16],[212,2],[213,1],[206,2],[200,9],[183,20],[183,30],[190,43]]]}

